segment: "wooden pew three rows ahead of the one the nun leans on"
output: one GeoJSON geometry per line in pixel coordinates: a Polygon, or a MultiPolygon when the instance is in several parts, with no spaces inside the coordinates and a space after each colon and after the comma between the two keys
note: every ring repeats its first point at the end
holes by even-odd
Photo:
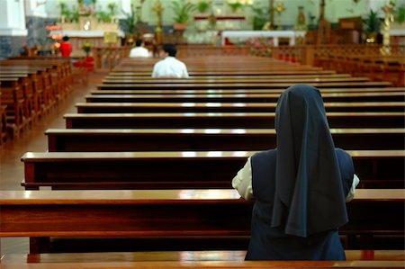
{"type": "MultiPolygon", "coordinates": [[[[330,128],[403,128],[405,112],[327,112],[330,128]]],[[[275,113],[100,113],[64,115],[68,129],[272,129],[275,113]]]]}

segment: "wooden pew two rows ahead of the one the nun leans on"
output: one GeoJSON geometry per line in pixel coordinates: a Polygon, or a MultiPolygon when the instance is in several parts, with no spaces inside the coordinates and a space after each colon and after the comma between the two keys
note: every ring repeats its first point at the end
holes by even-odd
{"type": "MultiPolygon", "coordinates": [[[[331,129],[345,149],[403,149],[405,129],[331,129]],[[377,141],[383,141],[378,143],[377,141]]],[[[49,129],[49,152],[266,150],[274,129],[49,129]]]]}

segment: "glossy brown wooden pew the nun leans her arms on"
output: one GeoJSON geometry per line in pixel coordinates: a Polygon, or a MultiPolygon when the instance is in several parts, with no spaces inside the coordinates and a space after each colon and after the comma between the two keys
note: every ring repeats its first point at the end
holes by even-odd
{"type": "MultiPolygon", "coordinates": [[[[350,221],[339,233],[369,236],[363,247],[371,249],[377,236],[403,238],[404,199],[403,190],[357,190],[347,203],[350,221]]],[[[0,206],[0,237],[30,237],[31,253],[41,251],[36,243],[43,237],[154,238],[162,244],[158,250],[165,238],[191,238],[193,244],[193,238],[216,238],[217,249],[245,238],[245,248],[252,211],[235,190],[1,191],[0,206]]]]}

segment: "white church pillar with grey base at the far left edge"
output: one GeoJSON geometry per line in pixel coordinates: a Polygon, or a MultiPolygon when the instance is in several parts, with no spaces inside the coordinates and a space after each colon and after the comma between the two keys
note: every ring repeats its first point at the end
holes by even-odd
{"type": "Polygon", "coordinates": [[[20,54],[27,39],[24,1],[0,1],[0,58],[20,54]]]}

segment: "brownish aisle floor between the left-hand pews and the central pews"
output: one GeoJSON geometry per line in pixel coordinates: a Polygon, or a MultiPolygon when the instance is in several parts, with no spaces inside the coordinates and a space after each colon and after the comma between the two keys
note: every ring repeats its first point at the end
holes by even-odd
{"type": "MultiPolygon", "coordinates": [[[[89,75],[88,85],[75,85],[74,91],[67,99],[58,103],[58,106],[31,129],[26,130],[18,140],[7,141],[0,148],[0,189],[21,190],[24,176],[24,167],[20,158],[27,151],[47,151],[48,141],[44,134],[49,128],[65,128],[63,115],[67,112],[76,112],[75,103],[84,102],[85,94],[95,89],[105,73],[89,75]]],[[[2,254],[27,253],[28,238],[1,238],[2,254]]]]}

